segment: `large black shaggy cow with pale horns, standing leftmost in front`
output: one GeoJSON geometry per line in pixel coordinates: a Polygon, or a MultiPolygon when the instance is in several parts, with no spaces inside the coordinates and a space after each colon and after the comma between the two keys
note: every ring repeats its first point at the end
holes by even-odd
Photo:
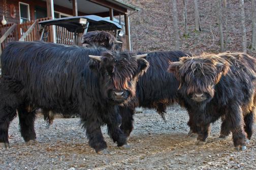
{"type": "Polygon", "coordinates": [[[16,109],[23,139],[36,140],[33,108],[38,107],[51,113],[79,113],[96,152],[107,153],[104,124],[117,146],[125,145],[117,105],[135,96],[138,77],[148,67],[145,56],[43,42],[10,43],[1,56],[0,143],[9,146],[8,129],[16,109]]]}

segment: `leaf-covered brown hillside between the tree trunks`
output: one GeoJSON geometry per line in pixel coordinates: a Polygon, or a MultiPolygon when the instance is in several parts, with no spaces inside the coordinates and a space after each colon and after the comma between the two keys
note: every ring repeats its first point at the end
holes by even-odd
{"type": "MultiPolygon", "coordinates": [[[[141,9],[130,12],[132,46],[135,51],[171,51],[174,50],[174,28],[172,1],[166,0],[123,0],[141,9]]],[[[183,19],[183,1],[177,2],[180,50],[199,55],[202,52],[219,53],[219,26],[217,22],[217,2],[198,0],[201,31],[195,31],[194,1],[187,0],[187,30],[185,35],[183,19]]],[[[221,1],[222,2],[222,1],[221,1]]],[[[251,51],[251,1],[244,1],[247,53],[251,51]]],[[[225,51],[242,52],[241,10],[238,0],[227,1],[222,6],[222,24],[225,51]],[[227,24],[226,24],[227,20],[227,24]]]]}

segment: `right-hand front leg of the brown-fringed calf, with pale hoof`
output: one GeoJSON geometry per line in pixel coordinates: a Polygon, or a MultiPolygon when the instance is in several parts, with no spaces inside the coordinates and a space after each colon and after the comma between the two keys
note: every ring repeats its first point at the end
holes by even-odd
{"type": "Polygon", "coordinates": [[[238,150],[245,150],[246,135],[244,132],[244,121],[240,106],[233,105],[227,110],[226,119],[229,124],[227,128],[232,132],[234,146],[238,150]]]}

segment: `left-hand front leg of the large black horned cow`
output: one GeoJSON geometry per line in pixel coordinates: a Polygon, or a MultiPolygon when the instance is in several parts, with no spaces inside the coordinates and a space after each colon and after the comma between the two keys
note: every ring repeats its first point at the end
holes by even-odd
{"type": "Polygon", "coordinates": [[[104,141],[101,124],[96,118],[84,119],[82,118],[83,128],[86,130],[86,136],[89,140],[89,145],[97,153],[107,154],[107,143],[104,141]],[[102,152],[101,152],[102,151],[102,152]]]}

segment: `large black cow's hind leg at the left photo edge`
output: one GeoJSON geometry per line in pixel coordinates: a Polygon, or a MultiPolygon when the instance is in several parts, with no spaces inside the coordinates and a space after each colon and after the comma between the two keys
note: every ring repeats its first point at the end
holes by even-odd
{"type": "Polygon", "coordinates": [[[16,116],[16,109],[4,106],[0,108],[0,148],[9,148],[8,130],[10,122],[16,116]]]}

